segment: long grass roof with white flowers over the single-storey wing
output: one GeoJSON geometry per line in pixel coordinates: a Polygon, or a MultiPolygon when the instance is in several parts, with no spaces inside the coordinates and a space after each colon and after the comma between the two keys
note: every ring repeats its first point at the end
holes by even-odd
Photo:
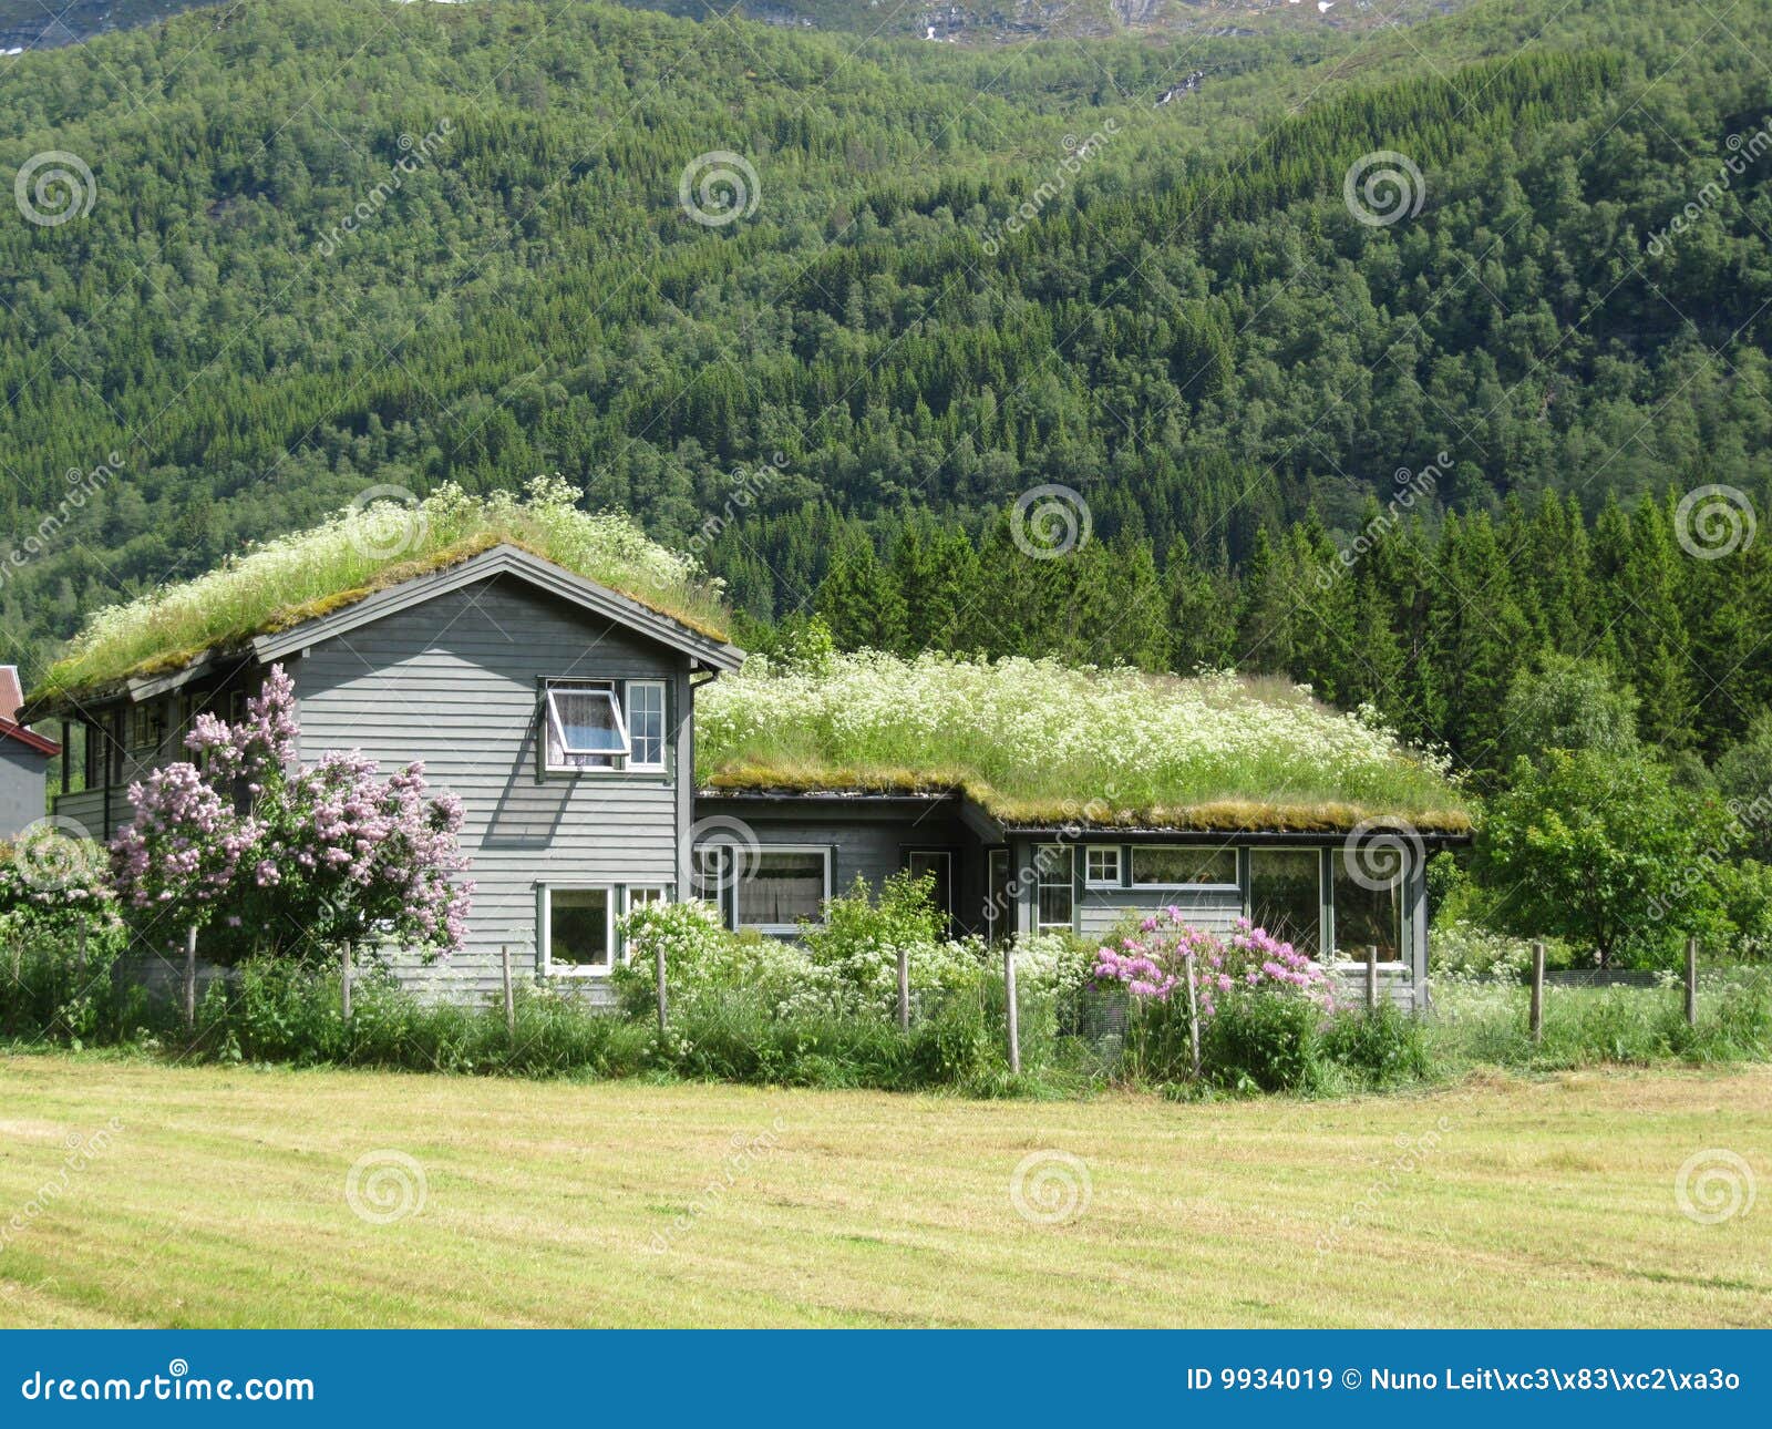
{"type": "Polygon", "coordinates": [[[696,777],[718,791],[960,789],[1008,824],[1464,832],[1446,766],[1366,714],[1233,674],[1180,679],[1051,660],[751,658],[696,695],[696,777]]]}

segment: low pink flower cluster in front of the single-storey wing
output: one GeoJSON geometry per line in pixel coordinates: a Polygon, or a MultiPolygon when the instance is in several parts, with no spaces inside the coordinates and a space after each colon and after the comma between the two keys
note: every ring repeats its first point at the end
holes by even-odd
{"type": "Polygon", "coordinates": [[[1194,998],[1210,1018],[1219,1002],[1239,993],[1308,996],[1333,1009],[1329,975],[1306,954],[1272,933],[1237,918],[1228,938],[1193,927],[1180,908],[1166,908],[1139,924],[1139,936],[1095,952],[1095,979],[1120,982],[1136,998],[1168,1002],[1185,988],[1193,956],[1194,998]]]}

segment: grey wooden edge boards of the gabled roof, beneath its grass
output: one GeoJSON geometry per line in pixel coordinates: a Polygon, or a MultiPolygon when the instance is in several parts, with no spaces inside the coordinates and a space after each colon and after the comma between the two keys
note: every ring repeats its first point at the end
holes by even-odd
{"type": "Polygon", "coordinates": [[[381,621],[402,610],[411,610],[425,601],[432,601],[439,596],[450,594],[452,590],[461,590],[494,576],[521,580],[537,590],[585,610],[590,615],[613,621],[615,624],[657,640],[661,645],[682,651],[707,668],[735,670],[744,660],[744,652],[727,640],[703,635],[702,631],[693,629],[670,615],[652,610],[629,596],[622,596],[606,585],[599,585],[594,580],[567,571],[563,566],[556,566],[555,562],[546,560],[533,551],[526,551],[521,546],[498,543],[496,546],[478,551],[464,560],[457,560],[452,566],[422,571],[420,574],[402,580],[397,585],[386,585],[379,590],[367,590],[361,596],[326,610],[324,613],[299,619],[294,624],[287,624],[278,629],[260,631],[245,642],[190,651],[175,663],[119,681],[115,686],[106,690],[83,690],[71,695],[39,695],[27,713],[32,718],[43,718],[46,714],[69,713],[80,706],[90,707],[94,704],[110,702],[117,697],[126,697],[129,700],[154,699],[156,695],[165,695],[190,684],[191,681],[200,679],[230,661],[257,661],[271,665],[291,654],[305,651],[310,645],[317,645],[323,640],[333,640],[353,629],[367,626],[372,621],[381,621]]]}

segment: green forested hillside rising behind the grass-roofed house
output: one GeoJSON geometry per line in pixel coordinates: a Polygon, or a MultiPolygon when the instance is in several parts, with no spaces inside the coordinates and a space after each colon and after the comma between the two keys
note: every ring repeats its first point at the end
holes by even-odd
{"type": "Polygon", "coordinates": [[[0,92],[0,163],[92,172],[90,211],[0,223],[0,622],[32,670],[369,486],[560,472],[666,541],[712,518],[764,624],[1237,660],[1480,768],[1545,651],[1611,660],[1675,746],[1763,706],[1763,546],[1690,558],[1673,504],[1765,511],[1772,475],[1772,78],[1740,43],[1768,0],[992,51],[225,14],[0,92]],[[1421,176],[1395,222],[1345,193],[1373,151],[1421,176]],[[748,191],[696,213],[712,152],[755,181],[721,161],[748,191]],[[1042,484],[1086,505],[1072,558],[1019,557],[1042,484]]]}

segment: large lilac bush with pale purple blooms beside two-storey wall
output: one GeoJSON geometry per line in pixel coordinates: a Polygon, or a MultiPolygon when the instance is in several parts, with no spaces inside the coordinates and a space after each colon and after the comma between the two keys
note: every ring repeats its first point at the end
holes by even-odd
{"type": "Polygon", "coordinates": [[[200,714],[191,762],[129,789],[133,823],[112,844],[119,897],[138,933],[209,929],[204,956],[310,957],[399,945],[461,949],[473,885],[461,801],[429,796],[424,766],[381,780],[360,752],[296,762],[294,684],[275,667],[246,720],[200,714]]]}

